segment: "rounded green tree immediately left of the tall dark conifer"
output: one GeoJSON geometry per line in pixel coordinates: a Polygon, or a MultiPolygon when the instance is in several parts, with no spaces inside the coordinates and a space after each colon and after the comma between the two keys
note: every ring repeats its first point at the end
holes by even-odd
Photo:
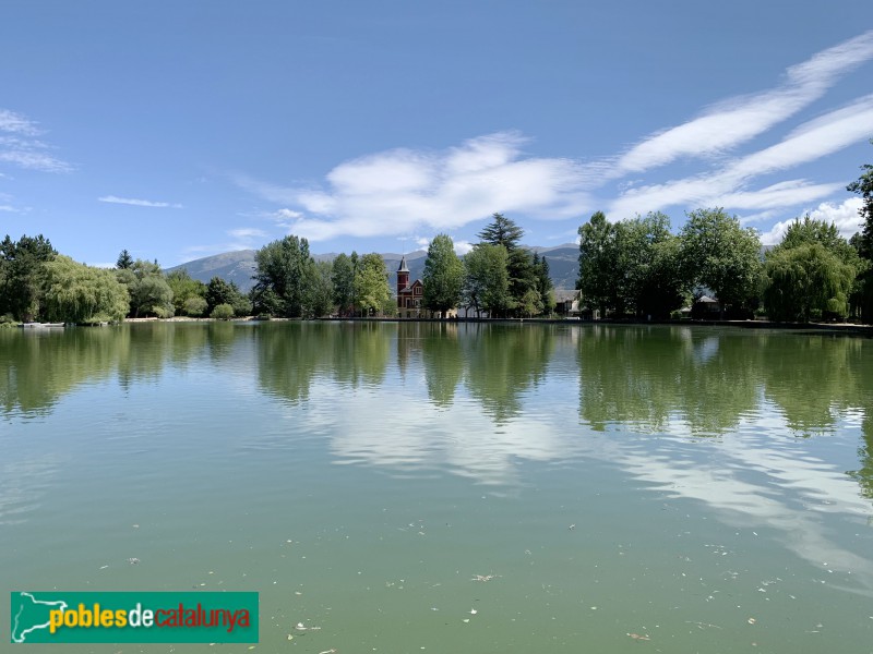
{"type": "Polygon", "coordinates": [[[503,245],[476,245],[464,256],[464,301],[477,317],[482,311],[503,315],[512,303],[507,262],[503,245]]]}

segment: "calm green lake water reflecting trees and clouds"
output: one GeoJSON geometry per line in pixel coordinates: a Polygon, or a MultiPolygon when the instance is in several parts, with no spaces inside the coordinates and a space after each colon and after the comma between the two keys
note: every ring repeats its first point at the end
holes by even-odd
{"type": "Polygon", "coordinates": [[[23,331],[0,330],[0,650],[9,593],[57,589],[260,592],[254,650],[71,653],[873,652],[871,340],[23,331]]]}

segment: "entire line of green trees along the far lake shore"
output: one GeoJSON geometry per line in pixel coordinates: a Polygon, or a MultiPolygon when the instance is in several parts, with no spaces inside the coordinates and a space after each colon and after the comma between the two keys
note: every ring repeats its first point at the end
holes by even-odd
{"type": "MultiPolygon", "coordinates": [[[[713,293],[720,317],[871,323],[873,166],[861,168],[847,189],[862,197],[862,229],[848,241],[833,223],[808,215],[763,253],[757,232],[720,208],[691,211],[677,234],[660,213],[609,222],[598,211],[578,229],[582,304],[603,317],[666,318],[713,293]]],[[[452,239],[438,234],[428,247],[421,307],[439,316],[462,305],[477,316],[550,315],[549,264],[522,247],[523,235],[513,220],[494,214],[459,257],[452,239]]],[[[219,277],[204,283],[183,269],[165,274],[157,261],[134,261],[127,250],[115,269],[96,268],[59,254],[41,234],[7,235],[0,242],[0,323],[397,314],[378,253],[315,262],[306,239],[288,235],[255,253],[253,279],[246,294],[219,277]]]]}

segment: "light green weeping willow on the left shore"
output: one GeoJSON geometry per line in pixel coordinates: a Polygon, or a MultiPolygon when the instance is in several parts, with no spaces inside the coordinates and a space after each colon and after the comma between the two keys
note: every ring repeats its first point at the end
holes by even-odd
{"type": "Polygon", "coordinates": [[[45,316],[49,322],[94,324],[124,319],[128,289],[115,272],[59,255],[44,264],[45,316]]]}

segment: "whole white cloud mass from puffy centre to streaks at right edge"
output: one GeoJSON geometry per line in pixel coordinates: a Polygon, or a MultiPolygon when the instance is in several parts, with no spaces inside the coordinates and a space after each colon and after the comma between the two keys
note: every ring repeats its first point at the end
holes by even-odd
{"type": "Polygon", "coordinates": [[[746,221],[763,221],[845,189],[844,180],[773,177],[865,141],[873,134],[873,95],[806,120],[784,136],[768,138],[765,147],[754,148],[753,142],[788,119],[797,120],[871,60],[873,29],[787,69],[772,89],[727,98],[596,161],[534,157],[524,149],[524,135],[499,132],[444,150],[397,148],[344,161],[319,184],[234,179],[282,206],[273,219],[310,241],[400,230],[410,235],[419,230],[452,233],[495,210],[578,220],[595,208],[621,219],[673,207],[723,206],[746,221]],[[673,179],[661,172],[651,181],[655,169],[679,160],[696,168],[673,179]]]}

